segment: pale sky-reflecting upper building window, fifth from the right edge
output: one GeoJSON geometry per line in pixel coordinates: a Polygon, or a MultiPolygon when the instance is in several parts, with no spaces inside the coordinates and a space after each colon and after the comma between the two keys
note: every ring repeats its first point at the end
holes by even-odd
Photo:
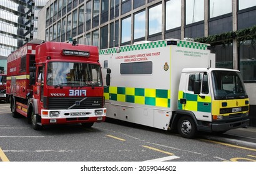
{"type": "Polygon", "coordinates": [[[149,35],[162,31],[162,4],[149,9],[149,35]]]}

